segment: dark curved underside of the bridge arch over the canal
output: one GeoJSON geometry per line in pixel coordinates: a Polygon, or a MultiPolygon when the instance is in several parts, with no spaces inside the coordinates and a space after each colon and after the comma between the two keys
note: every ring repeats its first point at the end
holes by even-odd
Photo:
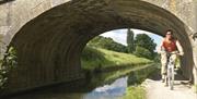
{"type": "Polygon", "coordinates": [[[73,81],[80,77],[80,54],[95,36],[119,28],[143,29],[164,36],[175,32],[185,55],[184,75],[193,67],[190,30],[171,12],[138,0],[72,0],[26,23],[12,38],[19,67],[9,74],[9,91],[73,81]]]}

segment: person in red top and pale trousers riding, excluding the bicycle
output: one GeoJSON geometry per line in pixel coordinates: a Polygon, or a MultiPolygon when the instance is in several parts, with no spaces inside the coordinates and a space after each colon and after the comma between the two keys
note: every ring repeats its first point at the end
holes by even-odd
{"type": "MultiPolygon", "coordinates": [[[[167,53],[178,52],[177,54],[172,54],[172,60],[175,62],[177,55],[183,55],[183,48],[177,39],[173,37],[173,30],[167,29],[165,32],[165,37],[159,46],[158,52],[161,53],[161,75],[162,82],[164,83],[166,77],[166,65],[167,65],[167,53]]],[[[175,66],[176,67],[176,66],[175,66]]]]}

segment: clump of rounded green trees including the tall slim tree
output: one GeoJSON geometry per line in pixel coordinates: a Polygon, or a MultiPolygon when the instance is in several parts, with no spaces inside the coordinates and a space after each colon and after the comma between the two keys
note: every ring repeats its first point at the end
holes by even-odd
{"type": "Polygon", "coordinates": [[[127,49],[128,53],[134,53],[138,57],[143,57],[148,59],[154,59],[154,49],[157,44],[147,34],[138,34],[135,37],[134,32],[128,28],[127,30],[127,49]]]}

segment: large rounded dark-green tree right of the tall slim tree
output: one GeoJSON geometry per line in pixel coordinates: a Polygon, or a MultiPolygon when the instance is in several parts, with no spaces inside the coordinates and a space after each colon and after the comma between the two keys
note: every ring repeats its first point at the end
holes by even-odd
{"type": "Polygon", "coordinates": [[[138,34],[135,38],[135,45],[148,49],[152,55],[157,47],[154,40],[147,34],[138,34]]]}

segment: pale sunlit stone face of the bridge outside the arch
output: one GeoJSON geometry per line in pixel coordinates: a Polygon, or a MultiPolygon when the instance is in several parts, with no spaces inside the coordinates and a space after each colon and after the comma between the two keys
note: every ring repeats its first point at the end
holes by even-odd
{"type": "MultiPolygon", "coordinates": [[[[47,10],[50,10],[70,0],[14,0],[8,3],[0,4],[0,38],[2,38],[0,39],[0,52],[3,53],[7,50],[7,46],[10,44],[14,35],[27,22],[38,16],[39,14],[46,12],[47,10]]],[[[194,48],[194,61],[197,65],[197,40],[194,41],[192,39],[192,34],[197,33],[197,0],[141,1],[146,1],[152,3],[153,5],[158,5],[159,8],[167,10],[185,24],[185,27],[188,28],[187,34],[188,36],[190,36],[190,44],[193,44],[194,48]]],[[[195,66],[194,75],[194,77],[196,77],[195,66]]]]}

